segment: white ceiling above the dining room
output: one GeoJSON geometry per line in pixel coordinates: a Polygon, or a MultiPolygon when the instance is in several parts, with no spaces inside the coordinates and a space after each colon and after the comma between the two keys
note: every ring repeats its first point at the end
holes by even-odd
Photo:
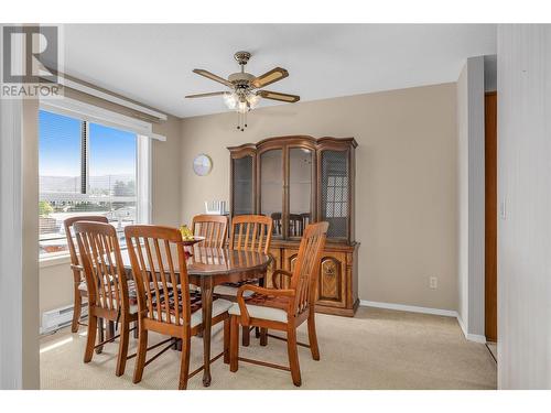
{"type": "MultiPolygon", "coordinates": [[[[227,110],[224,90],[192,73],[274,66],[289,77],[270,90],[315,100],[457,80],[466,57],[496,53],[494,24],[68,24],[65,72],[179,117],[227,110]]],[[[263,101],[261,105],[271,105],[263,101]]]]}

